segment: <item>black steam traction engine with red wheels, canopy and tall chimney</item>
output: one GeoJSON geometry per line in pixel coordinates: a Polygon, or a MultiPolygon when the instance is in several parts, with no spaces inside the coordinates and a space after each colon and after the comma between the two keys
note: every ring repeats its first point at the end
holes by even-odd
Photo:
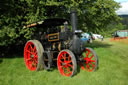
{"type": "Polygon", "coordinates": [[[72,31],[66,19],[46,19],[25,26],[40,29],[38,40],[29,40],[24,48],[26,67],[31,71],[50,70],[57,66],[61,75],[73,76],[79,65],[83,70],[95,71],[98,57],[91,48],[80,40],[81,30],[77,30],[77,15],[71,12],[72,31]],[[63,27],[59,28],[60,25],[63,27]],[[42,30],[42,31],[41,31],[42,30]]]}

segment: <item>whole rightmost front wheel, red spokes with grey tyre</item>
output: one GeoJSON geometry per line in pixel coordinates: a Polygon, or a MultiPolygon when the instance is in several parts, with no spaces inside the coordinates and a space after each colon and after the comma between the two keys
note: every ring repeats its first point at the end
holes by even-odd
{"type": "Polygon", "coordinates": [[[80,66],[83,70],[88,72],[95,71],[98,67],[98,56],[95,51],[91,48],[86,48],[82,53],[80,59],[80,66]]]}

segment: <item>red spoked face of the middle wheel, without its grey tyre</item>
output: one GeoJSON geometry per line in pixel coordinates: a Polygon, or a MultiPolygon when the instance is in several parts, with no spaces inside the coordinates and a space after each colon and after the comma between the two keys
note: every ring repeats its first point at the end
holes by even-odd
{"type": "Polygon", "coordinates": [[[58,69],[63,76],[71,76],[73,73],[73,62],[70,54],[62,51],[57,60],[58,69]]]}

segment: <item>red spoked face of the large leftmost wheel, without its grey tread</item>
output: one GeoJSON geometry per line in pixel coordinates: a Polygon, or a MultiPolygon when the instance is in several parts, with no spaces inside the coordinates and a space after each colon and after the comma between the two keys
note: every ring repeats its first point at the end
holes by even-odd
{"type": "Polygon", "coordinates": [[[35,71],[38,64],[37,49],[34,43],[28,42],[24,49],[24,59],[27,68],[31,71],[35,71]]]}

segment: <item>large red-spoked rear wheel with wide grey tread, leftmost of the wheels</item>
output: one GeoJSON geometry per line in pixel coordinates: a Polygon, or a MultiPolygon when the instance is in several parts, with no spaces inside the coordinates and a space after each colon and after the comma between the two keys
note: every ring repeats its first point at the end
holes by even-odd
{"type": "Polygon", "coordinates": [[[31,71],[41,69],[41,58],[43,55],[43,47],[37,40],[30,40],[24,48],[24,60],[26,67],[31,71]]]}

